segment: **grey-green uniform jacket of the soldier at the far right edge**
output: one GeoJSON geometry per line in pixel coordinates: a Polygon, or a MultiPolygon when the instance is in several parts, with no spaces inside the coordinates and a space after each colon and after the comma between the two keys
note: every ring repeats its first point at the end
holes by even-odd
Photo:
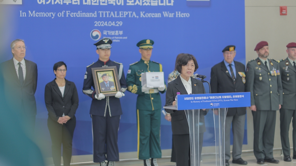
{"type": "Polygon", "coordinates": [[[283,86],[283,105],[282,108],[296,110],[296,70],[288,58],[280,63],[282,86],[283,86]],[[288,62],[288,65],[286,65],[288,62]]]}

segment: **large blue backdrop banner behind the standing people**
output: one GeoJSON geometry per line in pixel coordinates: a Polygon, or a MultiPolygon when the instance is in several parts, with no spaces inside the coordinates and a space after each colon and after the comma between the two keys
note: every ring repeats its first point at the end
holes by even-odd
{"type": "MultiPolygon", "coordinates": [[[[235,60],[245,64],[244,1],[0,0],[0,7],[0,63],[12,58],[10,43],[19,38],[27,46],[25,58],[38,66],[35,132],[46,157],[51,156],[51,139],[44,87],[55,78],[52,67],[58,61],[67,64],[66,79],[76,84],[79,95],[73,155],[92,154],[92,99],[82,87],[86,66],[98,60],[93,44],[102,38],[113,40],[110,60],[122,63],[125,75],[129,64],[141,58],[136,44],[142,39],[154,40],[151,60],[162,64],[165,80],[179,53],[194,55],[196,73],[208,76],[207,81],[227,45],[236,45],[235,60]]],[[[119,152],[137,151],[137,95],[125,92],[120,100],[119,152]]],[[[165,94],[161,100],[164,106],[165,94]]],[[[161,148],[171,149],[171,122],[161,116],[161,148]]]]}

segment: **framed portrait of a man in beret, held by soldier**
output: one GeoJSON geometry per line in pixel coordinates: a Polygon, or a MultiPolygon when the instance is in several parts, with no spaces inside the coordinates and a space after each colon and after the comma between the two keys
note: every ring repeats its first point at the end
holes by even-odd
{"type": "Polygon", "coordinates": [[[121,92],[116,66],[92,68],[92,76],[97,94],[115,96],[118,91],[121,92]]]}

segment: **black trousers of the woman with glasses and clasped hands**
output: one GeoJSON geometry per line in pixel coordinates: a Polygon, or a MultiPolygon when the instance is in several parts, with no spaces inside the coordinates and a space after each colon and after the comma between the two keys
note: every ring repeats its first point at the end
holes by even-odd
{"type": "Polygon", "coordinates": [[[63,144],[64,166],[70,166],[72,157],[72,139],[76,126],[76,117],[68,120],[67,123],[60,124],[47,119],[47,127],[51,137],[51,153],[55,166],[61,165],[61,145],[63,144]]]}

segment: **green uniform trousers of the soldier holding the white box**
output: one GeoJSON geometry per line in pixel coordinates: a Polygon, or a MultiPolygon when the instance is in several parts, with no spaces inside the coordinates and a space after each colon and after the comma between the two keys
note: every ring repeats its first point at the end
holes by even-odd
{"type": "Polygon", "coordinates": [[[160,109],[137,110],[138,158],[161,158],[160,109]]]}

